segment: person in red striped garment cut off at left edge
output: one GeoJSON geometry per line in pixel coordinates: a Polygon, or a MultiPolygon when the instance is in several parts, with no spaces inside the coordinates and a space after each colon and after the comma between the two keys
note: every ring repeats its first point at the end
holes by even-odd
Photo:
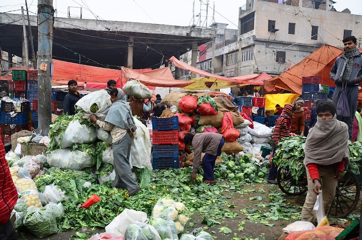
{"type": "MultiPolygon", "coordinates": [[[[0,62],[2,60],[0,48],[0,62]]],[[[2,71],[0,64],[0,72],[2,71]]],[[[17,240],[18,236],[10,221],[10,214],[18,201],[18,191],[10,174],[9,164],[5,159],[5,148],[0,140],[0,239],[17,240]]]]}

